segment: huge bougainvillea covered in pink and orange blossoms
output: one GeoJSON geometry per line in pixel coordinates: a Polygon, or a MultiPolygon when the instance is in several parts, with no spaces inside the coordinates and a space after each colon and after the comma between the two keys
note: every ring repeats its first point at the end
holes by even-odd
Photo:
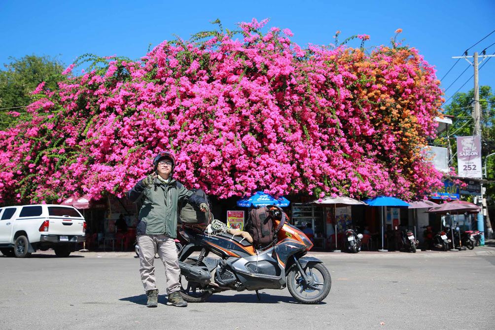
{"type": "Polygon", "coordinates": [[[265,24],[98,58],[57,91],[40,85],[31,120],[0,132],[0,201],[122,196],[162,150],[176,178],[219,198],[410,199],[441,184],[422,150],[442,92],[417,50],[302,49],[265,24]]]}

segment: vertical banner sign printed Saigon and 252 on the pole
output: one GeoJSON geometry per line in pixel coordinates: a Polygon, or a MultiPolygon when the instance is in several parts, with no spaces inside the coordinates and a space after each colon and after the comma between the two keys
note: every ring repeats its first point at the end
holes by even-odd
{"type": "Polygon", "coordinates": [[[482,178],[481,137],[457,137],[457,170],[460,177],[482,178]]]}

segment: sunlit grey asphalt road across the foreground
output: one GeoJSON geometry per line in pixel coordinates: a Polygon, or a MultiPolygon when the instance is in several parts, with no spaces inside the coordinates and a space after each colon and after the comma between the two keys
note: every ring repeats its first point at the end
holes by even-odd
{"type": "Polygon", "coordinates": [[[261,302],[224,292],[187,308],[165,305],[161,264],[159,306],[147,308],[131,253],[0,257],[0,328],[495,329],[495,250],[315,256],[333,280],[318,305],[283,289],[263,290],[261,302]]]}

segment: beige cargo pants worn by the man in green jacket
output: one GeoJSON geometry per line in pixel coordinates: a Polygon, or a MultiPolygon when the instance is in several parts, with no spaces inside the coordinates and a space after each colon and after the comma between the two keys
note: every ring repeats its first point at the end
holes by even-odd
{"type": "Polygon", "coordinates": [[[153,262],[155,253],[158,253],[165,266],[167,294],[179,291],[181,288],[179,282],[181,269],[179,268],[174,239],[165,235],[139,235],[138,245],[139,272],[141,273],[141,281],[145,290],[154,290],[156,288],[153,262]]]}

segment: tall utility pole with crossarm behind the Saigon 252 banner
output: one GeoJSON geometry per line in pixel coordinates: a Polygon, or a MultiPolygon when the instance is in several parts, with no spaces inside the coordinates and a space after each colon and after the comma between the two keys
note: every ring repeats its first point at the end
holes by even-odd
{"type": "MultiPolygon", "coordinates": [[[[487,57],[495,57],[495,55],[486,55],[485,51],[483,51],[481,56],[478,56],[478,52],[474,53],[474,56],[468,56],[467,51],[464,53],[464,56],[453,56],[452,58],[464,58],[469,64],[471,64],[474,67],[474,100],[473,100],[473,119],[474,119],[474,130],[473,130],[473,135],[475,136],[481,136],[481,111],[480,111],[480,86],[479,86],[479,79],[478,79],[478,71],[479,71],[479,64],[481,62],[478,62],[478,57],[482,57],[481,62],[485,60],[487,57]],[[473,63],[469,61],[468,58],[473,58],[473,63]]],[[[481,150],[480,150],[481,154],[481,150]]],[[[483,171],[482,171],[482,178],[483,178],[483,171]]],[[[481,235],[481,245],[485,245],[485,226],[484,226],[484,219],[483,219],[483,211],[484,211],[484,206],[483,206],[483,183],[481,183],[481,212],[478,213],[478,230],[481,231],[483,234],[481,235]]],[[[487,213],[488,214],[488,213],[487,213]]],[[[488,229],[488,226],[487,226],[488,229]]]]}

